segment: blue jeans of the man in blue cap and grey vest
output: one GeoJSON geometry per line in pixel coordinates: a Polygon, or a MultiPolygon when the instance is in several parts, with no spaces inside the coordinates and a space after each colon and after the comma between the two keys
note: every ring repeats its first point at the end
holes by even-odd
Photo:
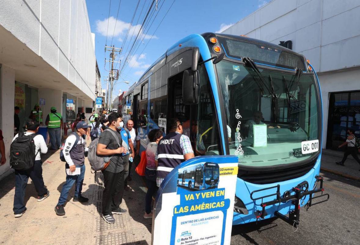
{"type": "Polygon", "coordinates": [[[76,167],[80,168],[80,174],[66,175],[66,183],[63,185],[63,188],[61,190],[58,205],[65,204],[67,196],[69,195],[69,191],[75,182],[76,182],[76,186],[75,186],[74,197],[81,196],[82,183],[84,182],[84,177],[85,177],[85,164],[76,167]]]}

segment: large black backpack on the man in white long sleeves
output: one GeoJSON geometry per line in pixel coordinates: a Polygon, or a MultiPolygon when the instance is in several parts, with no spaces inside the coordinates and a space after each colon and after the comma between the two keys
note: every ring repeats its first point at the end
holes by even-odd
{"type": "Polygon", "coordinates": [[[23,132],[10,145],[10,166],[16,170],[27,170],[34,166],[35,143],[34,138],[37,134],[25,135],[23,132]]]}

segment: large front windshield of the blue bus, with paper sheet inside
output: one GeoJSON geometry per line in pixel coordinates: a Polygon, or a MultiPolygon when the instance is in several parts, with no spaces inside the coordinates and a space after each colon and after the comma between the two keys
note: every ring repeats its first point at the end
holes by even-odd
{"type": "Polygon", "coordinates": [[[239,63],[223,60],[216,69],[224,98],[223,120],[230,155],[238,155],[239,164],[289,164],[316,154],[302,155],[301,151],[301,142],[319,139],[314,74],[259,68],[261,81],[252,68],[239,63]]]}

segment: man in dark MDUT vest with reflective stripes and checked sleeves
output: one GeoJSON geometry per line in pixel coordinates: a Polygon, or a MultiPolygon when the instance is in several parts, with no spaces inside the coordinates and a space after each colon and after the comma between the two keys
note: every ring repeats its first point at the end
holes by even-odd
{"type": "Polygon", "coordinates": [[[158,143],[155,156],[156,184],[160,187],[166,175],[181,162],[194,157],[189,137],[183,134],[183,126],[177,118],[170,119],[169,133],[158,143]]]}

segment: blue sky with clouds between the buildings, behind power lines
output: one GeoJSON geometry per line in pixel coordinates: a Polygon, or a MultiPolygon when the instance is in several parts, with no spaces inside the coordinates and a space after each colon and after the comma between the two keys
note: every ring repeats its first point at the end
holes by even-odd
{"type": "MultiPolygon", "coordinates": [[[[153,18],[156,14],[157,16],[153,24],[150,26],[150,22],[148,24],[148,27],[150,27],[140,30],[140,32],[139,29],[145,17],[146,9],[152,1],[140,0],[138,11],[131,25],[130,22],[138,1],[121,0],[120,8],[119,1],[120,0],[111,0],[110,18],[108,18],[110,0],[86,0],[91,32],[95,33],[95,55],[102,77],[103,88],[105,88],[103,78],[109,74],[108,71],[104,70],[105,43],[108,46],[114,44],[115,47],[118,48],[123,46],[124,48],[120,59],[125,63],[125,58],[129,54],[136,34],[139,33],[142,39],[137,51],[132,52],[128,56],[127,65],[121,71],[121,77],[119,78],[119,82],[114,86],[113,95],[117,95],[120,89],[122,91],[127,90],[128,86],[125,83],[120,83],[120,81],[129,81],[130,85],[134,83],[150,64],[156,61],[156,59],[162,55],[167,48],[176,43],[176,41],[194,33],[201,34],[203,32],[224,30],[231,24],[240,21],[258,8],[261,8],[270,0],[175,0],[175,2],[174,0],[157,0],[158,7],[152,15],[153,18]],[[165,16],[173,2],[174,4],[170,11],[165,16]],[[141,9],[143,9],[143,12],[140,15],[141,9]],[[164,16],[163,22],[158,27],[164,16]],[[158,29],[154,33],[157,27],[158,29]],[[129,34],[125,41],[128,30],[129,34]],[[131,37],[132,39],[130,39],[131,37]],[[147,45],[146,48],[145,45],[147,45]]],[[[153,8],[155,8],[155,6],[153,6],[153,8]]],[[[149,16],[151,13],[152,12],[150,12],[149,16]]],[[[135,50],[136,49],[134,49],[134,51],[135,50]]],[[[118,60],[118,58],[119,57],[117,57],[116,60],[118,60]]],[[[109,52],[106,52],[106,59],[109,59],[109,52]]],[[[114,63],[114,65],[116,65],[116,63],[114,63]]],[[[119,67],[119,65],[117,65],[117,67],[119,67]]],[[[106,63],[106,69],[109,70],[109,63],[106,63]]]]}

